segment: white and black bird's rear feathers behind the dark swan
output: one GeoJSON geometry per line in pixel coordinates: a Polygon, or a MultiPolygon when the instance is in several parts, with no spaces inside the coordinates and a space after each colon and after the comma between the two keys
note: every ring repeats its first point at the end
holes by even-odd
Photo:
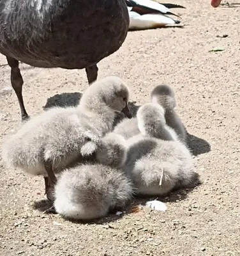
{"type": "Polygon", "coordinates": [[[128,30],[163,28],[167,25],[179,24],[179,20],[170,18],[166,14],[179,17],[170,12],[170,9],[185,8],[178,4],[157,3],[151,0],[125,0],[125,2],[130,16],[128,30]]]}

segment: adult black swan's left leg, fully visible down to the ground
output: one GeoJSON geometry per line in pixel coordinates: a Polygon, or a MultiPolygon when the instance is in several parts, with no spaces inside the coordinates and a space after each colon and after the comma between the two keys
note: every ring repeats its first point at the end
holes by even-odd
{"type": "Polygon", "coordinates": [[[22,99],[22,84],[24,84],[24,81],[20,73],[19,61],[8,56],[6,56],[6,60],[11,68],[11,86],[13,87],[13,90],[17,95],[17,99],[19,100],[22,121],[25,121],[29,118],[29,115],[27,115],[27,111],[24,107],[24,100],[22,99]]]}

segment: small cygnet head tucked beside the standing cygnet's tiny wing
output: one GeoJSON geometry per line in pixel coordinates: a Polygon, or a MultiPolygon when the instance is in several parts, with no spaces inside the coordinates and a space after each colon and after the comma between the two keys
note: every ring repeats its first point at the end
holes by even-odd
{"type": "Polygon", "coordinates": [[[120,168],[126,161],[126,140],[120,134],[109,132],[101,138],[96,159],[101,164],[120,168]]]}

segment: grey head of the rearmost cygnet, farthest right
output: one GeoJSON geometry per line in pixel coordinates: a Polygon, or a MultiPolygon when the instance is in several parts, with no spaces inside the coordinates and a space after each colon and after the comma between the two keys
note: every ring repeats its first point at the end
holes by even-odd
{"type": "Polygon", "coordinates": [[[153,89],[151,99],[153,103],[160,104],[166,110],[171,110],[176,107],[174,91],[165,84],[158,85],[153,89]]]}

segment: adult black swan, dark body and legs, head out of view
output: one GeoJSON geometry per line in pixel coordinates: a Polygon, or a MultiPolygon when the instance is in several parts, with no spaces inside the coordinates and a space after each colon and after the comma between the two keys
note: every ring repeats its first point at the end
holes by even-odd
{"type": "Polygon", "coordinates": [[[87,80],[98,76],[97,63],[116,52],[128,33],[124,0],[1,0],[0,52],[11,67],[11,85],[22,120],[19,61],[33,67],[86,68],[87,80]]]}

